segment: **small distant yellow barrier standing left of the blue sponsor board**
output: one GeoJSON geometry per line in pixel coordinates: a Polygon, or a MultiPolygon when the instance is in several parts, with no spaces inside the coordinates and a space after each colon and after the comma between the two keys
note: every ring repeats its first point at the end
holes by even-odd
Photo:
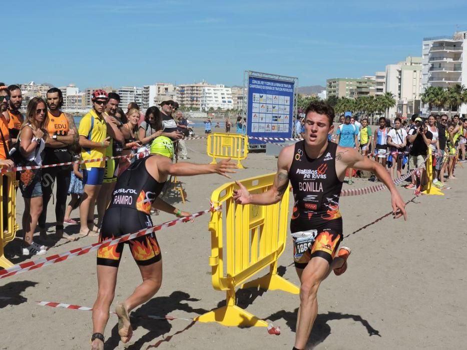
{"type": "Polygon", "coordinates": [[[232,158],[238,160],[238,167],[243,169],[240,160],[248,154],[248,137],[235,133],[210,133],[206,152],[213,158],[211,164],[217,162],[216,158],[232,158]]]}

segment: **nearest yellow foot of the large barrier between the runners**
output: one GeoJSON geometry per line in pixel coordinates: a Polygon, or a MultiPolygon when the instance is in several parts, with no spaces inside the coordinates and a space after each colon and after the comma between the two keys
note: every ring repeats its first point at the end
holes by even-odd
{"type": "Polygon", "coordinates": [[[217,322],[225,326],[267,327],[268,323],[235,305],[235,290],[227,290],[227,305],[195,317],[199,322],[217,322]]]}

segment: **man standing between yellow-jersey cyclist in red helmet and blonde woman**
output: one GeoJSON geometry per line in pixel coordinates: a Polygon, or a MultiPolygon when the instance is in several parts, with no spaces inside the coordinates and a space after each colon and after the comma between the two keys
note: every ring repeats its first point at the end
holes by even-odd
{"type": "MultiPolygon", "coordinates": [[[[130,136],[130,131],[123,126],[123,123],[115,117],[115,113],[119,108],[120,95],[116,92],[109,92],[109,100],[107,101],[106,109],[104,110],[104,119],[107,122],[107,125],[110,126],[115,135],[115,139],[112,138],[111,134],[107,132],[107,136],[111,136],[110,145],[106,148],[106,157],[113,157],[114,154],[114,142],[119,142],[120,144],[125,143],[125,138],[123,132],[127,132],[127,137],[130,136]]],[[[109,128],[107,129],[109,131],[109,128]]],[[[117,182],[116,174],[116,161],[115,159],[106,160],[106,167],[104,170],[104,180],[102,181],[101,191],[97,197],[97,213],[98,213],[98,222],[97,226],[101,227],[101,222],[104,217],[105,210],[110,203],[110,198],[112,196],[112,191],[115,188],[115,183],[117,182]]]]}

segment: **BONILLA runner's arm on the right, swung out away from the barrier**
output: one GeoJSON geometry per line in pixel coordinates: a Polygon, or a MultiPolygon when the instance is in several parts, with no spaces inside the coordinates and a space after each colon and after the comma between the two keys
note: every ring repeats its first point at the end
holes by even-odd
{"type": "Polygon", "coordinates": [[[407,213],[404,209],[405,203],[397,191],[397,188],[394,186],[391,176],[380,163],[361,155],[353,148],[347,147],[340,147],[340,149],[337,149],[336,164],[337,162],[342,162],[345,167],[352,167],[375,173],[391,192],[392,213],[394,218],[398,218],[403,215],[404,220],[407,219],[407,213]]]}

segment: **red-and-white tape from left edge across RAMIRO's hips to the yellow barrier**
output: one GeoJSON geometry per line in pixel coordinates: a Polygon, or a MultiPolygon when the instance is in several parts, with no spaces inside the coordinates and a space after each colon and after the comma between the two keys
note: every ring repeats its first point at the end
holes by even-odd
{"type": "Polygon", "coordinates": [[[125,234],[123,236],[120,236],[118,238],[115,238],[115,239],[106,239],[106,240],[104,240],[102,242],[97,242],[97,243],[87,245],[87,246],[84,246],[84,247],[81,247],[81,248],[72,249],[72,250],[66,251],[66,252],[61,253],[61,254],[54,254],[54,255],[43,257],[43,258],[40,258],[40,259],[37,259],[37,260],[30,260],[30,261],[22,262],[22,263],[19,263],[17,265],[14,265],[12,267],[0,270],[0,279],[1,278],[6,278],[6,277],[9,277],[9,276],[13,276],[15,274],[19,274],[19,273],[22,273],[22,272],[26,272],[26,271],[29,271],[29,270],[33,270],[33,269],[36,269],[36,268],[41,268],[41,267],[44,267],[44,266],[47,266],[47,265],[51,265],[51,264],[56,263],[56,262],[61,262],[61,261],[67,260],[67,259],[75,257],[75,256],[84,255],[84,254],[89,253],[90,251],[97,250],[100,247],[106,247],[106,246],[111,246],[111,245],[115,245],[115,244],[118,244],[118,243],[126,242],[126,241],[134,239],[136,237],[144,236],[144,235],[150,234],[152,232],[158,231],[161,228],[173,226],[173,225],[177,224],[178,222],[190,221],[191,219],[194,219],[195,217],[201,216],[201,215],[203,215],[203,214],[205,214],[207,212],[210,212],[210,211],[212,212],[212,211],[215,211],[215,210],[219,210],[220,208],[221,208],[221,206],[214,207],[211,204],[211,207],[209,209],[195,212],[195,213],[193,213],[193,214],[191,214],[189,216],[179,217],[179,218],[177,218],[175,220],[167,221],[167,222],[161,223],[159,225],[156,225],[156,226],[153,226],[153,227],[150,227],[150,228],[145,228],[145,229],[139,230],[137,232],[127,233],[127,234],[125,234]]]}

